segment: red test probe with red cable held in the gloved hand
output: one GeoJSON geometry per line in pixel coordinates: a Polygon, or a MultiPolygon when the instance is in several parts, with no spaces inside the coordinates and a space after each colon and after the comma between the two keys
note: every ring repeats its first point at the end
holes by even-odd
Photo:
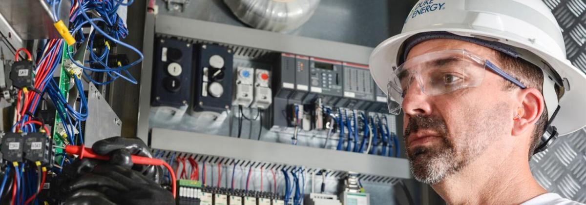
{"type": "MultiPolygon", "coordinates": [[[[83,158],[91,158],[91,159],[98,159],[98,160],[110,160],[110,156],[104,156],[104,155],[98,155],[96,154],[96,152],[94,152],[93,150],[91,150],[91,148],[86,148],[85,146],[73,146],[73,145],[67,145],[65,146],[65,152],[71,154],[71,155],[79,155],[80,159],[83,158]]],[[[155,165],[155,166],[165,166],[165,168],[167,168],[167,170],[169,170],[169,173],[171,174],[171,185],[172,185],[172,192],[173,192],[173,197],[176,197],[176,178],[175,178],[175,172],[173,172],[173,169],[171,168],[171,166],[169,166],[168,163],[166,163],[164,160],[161,159],[155,159],[155,158],[147,158],[145,156],[138,156],[138,155],[132,155],[132,163],[135,163],[137,165],[155,165]]]]}

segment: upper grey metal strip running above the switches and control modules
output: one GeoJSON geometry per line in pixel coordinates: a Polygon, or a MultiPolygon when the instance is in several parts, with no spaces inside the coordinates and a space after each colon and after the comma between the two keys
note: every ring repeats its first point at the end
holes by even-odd
{"type": "Polygon", "coordinates": [[[373,50],[372,47],[349,43],[312,39],[168,15],[156,16],[155,33],[360,64],[368,64],[370,53],[373,50]],[[224,33],[224,35],[221,33],[224,33]]]}

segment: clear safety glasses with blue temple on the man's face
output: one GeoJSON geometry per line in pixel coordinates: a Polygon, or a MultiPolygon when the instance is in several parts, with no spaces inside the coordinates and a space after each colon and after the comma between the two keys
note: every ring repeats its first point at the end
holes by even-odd
{"type": "Polygon", "coordinates": [[[419,86],[421,92],[428,96],[477,87],[482,84],[486,69],[520,88],[526,88],[489,60],[468,50],[442,50],[413,57],[393,70],[387,84],[389,112],[396,115],[401,112],[403,98],[411,86],[419,86]]]}

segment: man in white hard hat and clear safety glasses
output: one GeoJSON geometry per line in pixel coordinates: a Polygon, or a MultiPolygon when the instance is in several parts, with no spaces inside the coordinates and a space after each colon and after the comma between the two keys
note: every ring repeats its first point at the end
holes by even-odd
{"type": "Polygon", "coordinates": [[[540,0],[421,0],[370,56],[415,179],[449,204],[578,204],[529,159],[586,125],[586,76],[540,0]]]}

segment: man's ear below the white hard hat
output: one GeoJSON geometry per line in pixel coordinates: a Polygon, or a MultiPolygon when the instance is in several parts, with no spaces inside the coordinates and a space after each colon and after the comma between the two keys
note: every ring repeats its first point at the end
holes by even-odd
{"type": "Polygon", "coordinates": [[[532,128],[543,114],[545,102],[543,95],[536,88],[525,88],[517,95],[519,107],[513,114],[513,136],[520,136],[532,128]]]}

